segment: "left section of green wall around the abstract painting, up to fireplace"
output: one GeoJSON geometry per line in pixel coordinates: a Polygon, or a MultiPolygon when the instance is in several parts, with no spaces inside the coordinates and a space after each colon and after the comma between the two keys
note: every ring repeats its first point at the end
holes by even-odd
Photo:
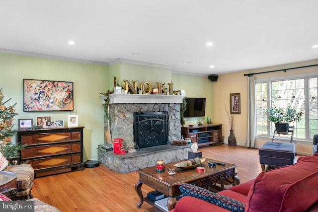
{"type": "MultiPolygon", "coordinates": [[[[23,112],[23,79],[45,79],[74,82],[74,110],[79,115],[79,125],[84,126],[84,160],[96,159],[96,147],[104,141],[104,117],[100,92],[105,92],[109,82],[109,67],[96,64],[53,60],[0,53],[0,87],[6,105],[15,106],[13,124],[18,119],[51,116],[52,120],[64,120],[70,111],[23,112]]],[[[15,140],[15,138],[13,138],[15,140]]]]}

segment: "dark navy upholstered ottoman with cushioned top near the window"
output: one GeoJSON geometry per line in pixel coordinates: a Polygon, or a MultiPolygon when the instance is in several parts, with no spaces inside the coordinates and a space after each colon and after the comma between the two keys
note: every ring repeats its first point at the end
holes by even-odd
{"type": "Polygon", "coordinates": [[[259,148],[258,155],[263,171],[265,170],[265,165],[293,165],[295,159],[295,143],[267,141],[259,148]]]}

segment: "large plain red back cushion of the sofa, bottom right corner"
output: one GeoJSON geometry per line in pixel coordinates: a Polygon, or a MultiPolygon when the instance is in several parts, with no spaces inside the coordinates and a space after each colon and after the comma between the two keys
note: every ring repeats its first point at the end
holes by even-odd
{"type": "Polygon", "coordinates": [[[245,212],[306,211],[318,201],[317,182],[318,156],[261,172],[250,188],[245,212]]]}

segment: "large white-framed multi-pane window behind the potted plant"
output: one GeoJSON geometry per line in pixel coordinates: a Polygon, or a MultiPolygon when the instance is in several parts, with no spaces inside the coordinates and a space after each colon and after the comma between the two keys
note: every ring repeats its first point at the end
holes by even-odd
{"type": "Polygon", "coordinates": [[[303,110],[302,120],[294,123],[294,138],[311,140],[318,134],[318,77],[298,77],[257,81],[256,91],[256,133],[272,135],[273,123],[267,119],[269,107],[291,106],[303,110]]]}

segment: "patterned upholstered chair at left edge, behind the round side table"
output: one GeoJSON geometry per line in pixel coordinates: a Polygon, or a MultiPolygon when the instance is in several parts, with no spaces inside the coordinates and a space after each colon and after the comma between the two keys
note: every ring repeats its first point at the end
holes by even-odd
{"type": "Polygon", "coordinates": [[[34,169],[29,164],[20,164],[7,166],[3,171],[10,171],[16,174],[16,196],[11,197],[11,200],[27,200],[32,198],[31,190],[34,179],[34,169]]]}

